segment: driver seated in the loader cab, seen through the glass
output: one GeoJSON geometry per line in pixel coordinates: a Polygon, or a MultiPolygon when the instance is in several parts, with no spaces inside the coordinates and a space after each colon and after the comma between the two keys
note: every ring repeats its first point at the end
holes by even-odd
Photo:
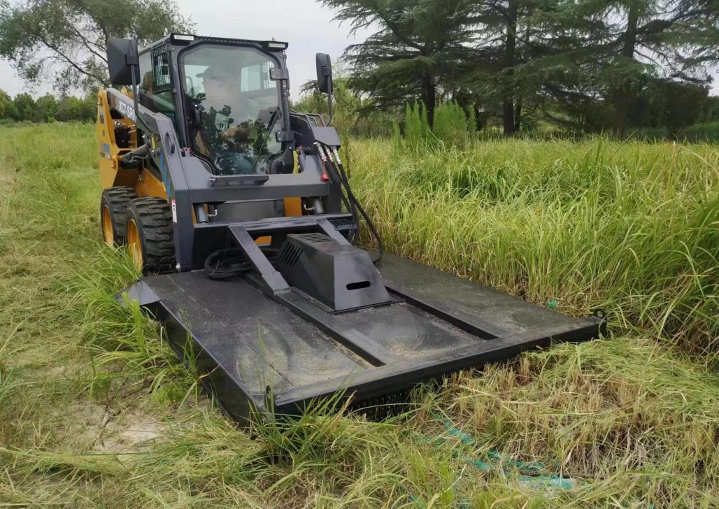
{"type": "MultiPolygon", "coordinates": [[[[262,126],[249,119],[251,105],[239,96],[239,70],[232,65],[210,65],[203,79],[201,129],[196,136],[200,152],[211,157],[223,174],[253,172],[254,145],[262,126]],[[258,129],[259,128],[259,129],[258,129]]],[[[257,170],[255,165],[255,173],[257,170]]]]}

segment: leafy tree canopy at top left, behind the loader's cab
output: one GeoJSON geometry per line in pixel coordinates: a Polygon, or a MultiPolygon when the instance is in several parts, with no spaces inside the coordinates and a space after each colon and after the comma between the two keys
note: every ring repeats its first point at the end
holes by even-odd
{"type": "Polygon", "coordinates": [[[0,57],[31,85],[89,90],[108,84],[111,37],[149,42],[188,28],[173,0],[0,0],[0,57]]]}

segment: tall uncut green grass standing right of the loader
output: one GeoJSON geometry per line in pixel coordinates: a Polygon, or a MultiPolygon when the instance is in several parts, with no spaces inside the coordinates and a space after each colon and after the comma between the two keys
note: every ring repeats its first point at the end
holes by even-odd
{"type": "Polygon", "coordinates": [[[719,343],[719,150],[363,140],[352,177],[388,249],[561,311],[719,343]]]}

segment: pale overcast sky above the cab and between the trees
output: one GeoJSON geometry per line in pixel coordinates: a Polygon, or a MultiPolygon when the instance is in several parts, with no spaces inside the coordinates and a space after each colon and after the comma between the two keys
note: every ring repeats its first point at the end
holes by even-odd
{"type": "MultiPolygon", "coordinates": [[[[344,48],[362,42],[365,33],[349,35],[349,24],[332,21],[334,14],[314,0],[178,0],[180,11],[196,23],[198,35],[242,37],[270,40],[273,37],[290,43],[288,68],[292,95],[299,87],[315,76],[314,54],[329,53],[337,58],[344,48]]],[[[11,96],[22,91],[22,80],[17,78],[9,63],[0,60],[0,89],[11,96]]],[[[49,92],[50,86],[40,87],[34,95],[49,92]]],[[[713,93],[719,95],[719,82],[715,80],[713,93]]]]}

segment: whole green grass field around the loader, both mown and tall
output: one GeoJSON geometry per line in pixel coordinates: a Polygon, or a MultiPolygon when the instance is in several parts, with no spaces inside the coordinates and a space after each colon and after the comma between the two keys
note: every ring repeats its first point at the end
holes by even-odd
{"type": "Polygon", "coordinates": [[[240,430],[99,240],[92,126],[0,128],[0,506],[713,508],[719,147],[349,143],[388,248],[614,334],[464,372],[381,423],[240,430]]]}

